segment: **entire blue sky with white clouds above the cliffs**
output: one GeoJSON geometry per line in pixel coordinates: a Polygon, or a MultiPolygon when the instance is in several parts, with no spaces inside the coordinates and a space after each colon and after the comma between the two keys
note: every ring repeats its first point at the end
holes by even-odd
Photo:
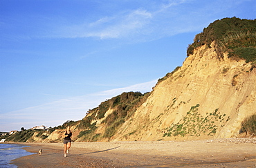
{"type": "Polygon", "coordinates": [[[255,0],[0,0],[0,131],[81,120],[124,91],[151,91],[194,36],[255,0]]]}

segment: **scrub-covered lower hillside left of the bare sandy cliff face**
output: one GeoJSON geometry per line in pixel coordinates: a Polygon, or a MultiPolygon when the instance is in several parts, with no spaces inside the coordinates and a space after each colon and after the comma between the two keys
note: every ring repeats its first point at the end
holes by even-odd
{"type": "Polygon", "coordinates": [[[125,120],[131,118],[138,106],[147,100],[148,96],[149,93],[128,92],[102,102],[98,107],[90,110],[77,125],[77,128],[84,130],[77,138],[88,142],[110,140],[125,120]],[[111,112],[107,113],[107,111],[111,112]],[[100,120],[104,130],[97,131],[96,122],[100,120]]]}

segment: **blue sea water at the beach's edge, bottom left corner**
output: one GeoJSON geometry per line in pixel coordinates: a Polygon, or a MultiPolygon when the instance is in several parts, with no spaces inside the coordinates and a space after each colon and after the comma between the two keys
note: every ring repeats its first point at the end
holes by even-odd
{"type": "Polygon", "coordinates": [[[16,165],[12,165],[11,161],[20,158],[23,156],[32,155],[34,153],[30,153],[24,149],[23,147],[28,147],[22,144],[1,144],[0,143],[0,167],[1,168],[16,168],[16,165]]]}

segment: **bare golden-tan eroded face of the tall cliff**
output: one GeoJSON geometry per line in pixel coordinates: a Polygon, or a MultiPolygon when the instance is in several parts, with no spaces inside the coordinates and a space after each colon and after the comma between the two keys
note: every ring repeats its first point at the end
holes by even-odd
{"type": "Polygon", "coordinates": [[[214,42],[210,48],[201,46],[155,86],[112,140],[239,136],[241,122],[256,112],[255,84],[256,68],[250,62],[230,59],[227,53],[218,57],[214,42]]]}

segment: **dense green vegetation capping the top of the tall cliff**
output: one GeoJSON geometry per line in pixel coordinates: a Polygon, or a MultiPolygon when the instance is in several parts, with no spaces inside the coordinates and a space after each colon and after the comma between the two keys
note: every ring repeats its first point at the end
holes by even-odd
{"type": "Polygon", "coordinates": [[[193,54],[199,46],[207,45],[210,48],[212,41],[217,44],[219,57],[228,52],[229,57],[243,58],[256,64],[256,19],[232,17],[214,21],[196,35],[194,43],[188,46],[187,55],[193,54]]]}

